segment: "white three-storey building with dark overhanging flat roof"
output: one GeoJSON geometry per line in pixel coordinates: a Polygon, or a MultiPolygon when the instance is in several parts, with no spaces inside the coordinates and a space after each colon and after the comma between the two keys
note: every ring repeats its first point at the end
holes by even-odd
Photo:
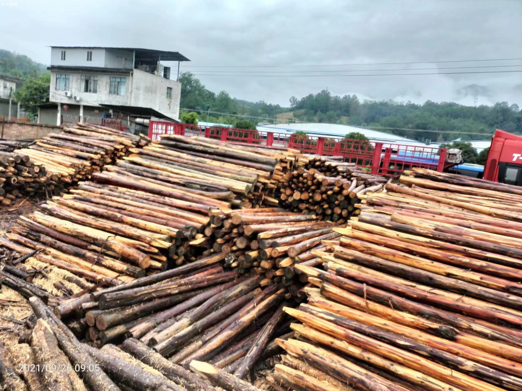
{"type": "Polygon", "coordinates": [[[179,70],[179,62],[188,58],[139,48],[52,46],[49,101],[56,106],[42,106],[40,121],[49,123],[52,112],[61,125],[64,115],[81,121],[113,111],[177,120],[181,83],[162,65],[172,61],[179,70]]]}

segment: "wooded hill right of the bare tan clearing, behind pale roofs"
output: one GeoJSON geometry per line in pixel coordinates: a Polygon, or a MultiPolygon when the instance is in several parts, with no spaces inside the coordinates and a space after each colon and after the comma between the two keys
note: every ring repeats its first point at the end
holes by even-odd
{"type": "Polygon", "coordinates": [[[464,106],[453,102],[424,104],[394,101],[360,102],[356,95],[332,96],[326,90],[297,100],[290,98],[293,116],[306,122],[345,123],[384,128],[421,141],[448,141],[457,138],[488,138],[496,128],[522,133],[522,111],[517,104],[499,102],[493,106],[464,106]],[[401,129],[425,129],[412,131],[401,129]],[[440,132],[434,132],[434,131],[440,132]],[[445,133],[450,131],[452,133],[445,133]],[[455,132],[455,133],[454,133],[455,132]]]}

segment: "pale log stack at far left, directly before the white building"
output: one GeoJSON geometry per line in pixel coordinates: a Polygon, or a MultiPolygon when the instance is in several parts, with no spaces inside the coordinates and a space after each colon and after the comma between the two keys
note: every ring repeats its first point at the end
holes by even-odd
{"type": "Polygon", "coordinates": [[[128,154],[129,148],[149,143],[145,136],[135,136],[112,128],[78,123],[35,140],[28,148],[14,153],[25,155],[34,164],[45,167],[48,181],[39,190],[58,194],[64,188],[99,172],[105,164],[128,154]]]}

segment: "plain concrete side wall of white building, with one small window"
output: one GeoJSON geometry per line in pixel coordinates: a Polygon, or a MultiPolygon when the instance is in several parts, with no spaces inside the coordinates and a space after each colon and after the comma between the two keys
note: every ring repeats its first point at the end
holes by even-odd
{"type": "Polygon", "coordinates": [[[134,70],[131,106],[151,107],[174,119],[180,116],[181,83],[134,70]],[[172,88],[171,99],[167,98],[167,87],[172,88]]]}

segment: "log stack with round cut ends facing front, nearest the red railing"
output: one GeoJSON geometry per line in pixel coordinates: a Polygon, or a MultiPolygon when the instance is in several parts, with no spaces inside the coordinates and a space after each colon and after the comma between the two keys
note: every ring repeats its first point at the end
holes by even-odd
{"type": "Polygon", "coordinates": [[[333,162],[316,155],[300,157],[280,180],[280,199],[287,209],[343,224],[360,197],[381,190],[387,180],[355,163],[333,162]]]}

